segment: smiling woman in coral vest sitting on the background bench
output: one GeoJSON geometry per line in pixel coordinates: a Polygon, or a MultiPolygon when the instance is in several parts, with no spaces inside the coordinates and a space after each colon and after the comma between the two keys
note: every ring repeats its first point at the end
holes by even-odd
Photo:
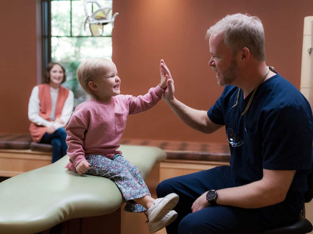
{"type": "Polygon", "coordinates": [[[73,110],[74,94],[61,84],[66,80],[65,69],[50,62],[44,75],[44,84],[33,88],[28,103],[30,134],[36,143],[52,144],[52,163],[67,151],[64,126],[73,110]]]}

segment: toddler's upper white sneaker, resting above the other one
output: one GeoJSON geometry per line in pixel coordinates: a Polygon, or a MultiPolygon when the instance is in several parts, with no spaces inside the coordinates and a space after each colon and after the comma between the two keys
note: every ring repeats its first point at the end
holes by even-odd
{"type": "Polygon", "coordinates": [[[153,205],[146,211],[149,222],[161,220],[178,203],[178,195],[170,193],[162,198],[157,198],[153,205]]]}

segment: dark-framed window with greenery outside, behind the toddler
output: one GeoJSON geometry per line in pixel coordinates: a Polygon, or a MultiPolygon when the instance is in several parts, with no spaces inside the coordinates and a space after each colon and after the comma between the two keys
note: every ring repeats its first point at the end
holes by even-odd
{"type": "MultiPolygon", "coordinates": [[[[112,0],[98,0],[101,7],[112,7],[112,0]]],[[[98,9],[87,4],[88,14],[98,9]]],[[[84,0],[43,0],[43,71],[50,61],[62,64],[67,80],[63,83],[74,92],[74,106],[88,96],[81,88],[76,72],[81,61],[90,57],[112,58],[112,25],[105,25],[101,37],[92,37],[84,11],[84,0]]]]}

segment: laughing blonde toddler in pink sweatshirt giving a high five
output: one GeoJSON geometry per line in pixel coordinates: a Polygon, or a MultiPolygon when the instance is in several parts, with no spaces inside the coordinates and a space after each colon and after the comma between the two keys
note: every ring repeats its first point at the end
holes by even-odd
{"type": "Polygon", "coordinates": [[[178,195],[152,198],[140,171],[117,149],[127,116],[156,105],[166,88],[167,77],[161,72],[161,83],[143,96],[120,95],[121,79],[115,64],[94,58],[80,64],[77,79],[91,98],[75,108],[66,127],[66,168],[110,178],[126,200],[125,211],[145,212],[151,233],[162,229],[177,217],[172,209],[178,195]]]}

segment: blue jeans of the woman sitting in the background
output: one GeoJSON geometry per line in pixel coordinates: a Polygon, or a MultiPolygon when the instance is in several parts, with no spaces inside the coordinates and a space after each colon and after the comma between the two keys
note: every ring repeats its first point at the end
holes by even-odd
{"type": "Polygon", "coordinates": [[[62,158],[67,151],[67,145],[65,142],[66,132],[64,128],[59,128],[53,134],[45,133],[39,143],[52,144],[52,163],[62,158]]]}

